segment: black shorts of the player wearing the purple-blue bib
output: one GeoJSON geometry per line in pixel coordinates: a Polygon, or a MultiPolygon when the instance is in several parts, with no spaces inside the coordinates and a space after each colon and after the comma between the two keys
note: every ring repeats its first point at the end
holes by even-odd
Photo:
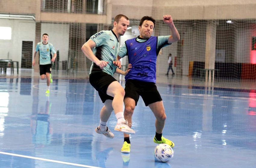
{"type": "Polygon", "coordinates": [[[146,106],[151,103],[162,101],[157,87],[154,82],[143,82],[139,80],[129,79],[125,83],[125,96],[135,100],[135,105],[139,101],[139,96],[142,97],[146,106]]]}

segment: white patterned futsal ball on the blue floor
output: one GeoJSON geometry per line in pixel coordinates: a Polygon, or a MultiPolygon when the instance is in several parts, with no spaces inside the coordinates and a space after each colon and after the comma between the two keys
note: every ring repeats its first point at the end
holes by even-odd
{"type": "Polygon", "coordinates": [[[168,162],[173,158],[173,153],[173,149],[170,145],[161,143],[155,147],[154,155],[159,162],[168,162]]]}

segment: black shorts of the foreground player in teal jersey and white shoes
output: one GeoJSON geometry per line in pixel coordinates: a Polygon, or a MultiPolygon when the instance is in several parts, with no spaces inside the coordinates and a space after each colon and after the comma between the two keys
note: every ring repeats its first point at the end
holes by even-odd
{"type": "Polygon", "coordinates": [[[107,95],[108,86],[117,81],[113,76],[105,72],[91,73],[89,76],[90,84],[98,91],[102,103],[106,100],[113,100],[112,96],[107,95]]]}

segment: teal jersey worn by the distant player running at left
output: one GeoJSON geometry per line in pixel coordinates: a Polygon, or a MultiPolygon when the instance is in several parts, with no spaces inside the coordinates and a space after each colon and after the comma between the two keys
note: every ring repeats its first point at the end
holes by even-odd
{"type": "Polygon", "coordinates": [[[51,43],[43,44],[43,42],[37,43],[36,52],[39,51],[39,64],[46,65],[52,64],[52,54],[55,54],[55,48],[51,43]]]}

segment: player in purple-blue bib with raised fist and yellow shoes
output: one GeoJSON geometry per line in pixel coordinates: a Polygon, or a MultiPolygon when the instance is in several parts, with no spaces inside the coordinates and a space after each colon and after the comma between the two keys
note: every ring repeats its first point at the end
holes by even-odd
{"type": "MultiPolygon", "coordinates": [[[[163,20],[169,26],[172,35],[151,36],[156,21],[150,16],[144,16],[139,23],[139,36],[125,41],[118,52],[118,58],[128,55],[129,63],[132,65],[125,76],[124,117],[129,126],[132,126],[133,111],[141,96],[156,117],[156,134],[153,141],[173,147],[174,143],[162,136],[166,114],[161,95],[155,85],[156,60],[160,49],[180,40],[180,35],[170,15],[164,15],[163,20]]],[[[124,134],[121,152],[130,153],[130,146],[129,134],[124,134]]]]}

